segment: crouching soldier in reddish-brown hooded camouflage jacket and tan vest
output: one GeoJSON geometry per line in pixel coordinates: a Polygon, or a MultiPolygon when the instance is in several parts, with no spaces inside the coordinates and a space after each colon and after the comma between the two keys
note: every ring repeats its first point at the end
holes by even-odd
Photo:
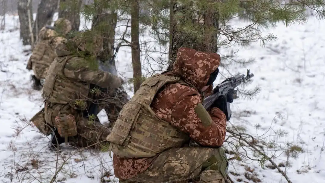
{"type": "Polygon", "coordinates": [[[202,105],[202,91],[219,64],[216,53],[179,48],[172,72],[141,84],[107,136],[120,183],[225,182],[226,115],[202,105]],[[189,139],[200,147],[185,146],[189,139]]]}

